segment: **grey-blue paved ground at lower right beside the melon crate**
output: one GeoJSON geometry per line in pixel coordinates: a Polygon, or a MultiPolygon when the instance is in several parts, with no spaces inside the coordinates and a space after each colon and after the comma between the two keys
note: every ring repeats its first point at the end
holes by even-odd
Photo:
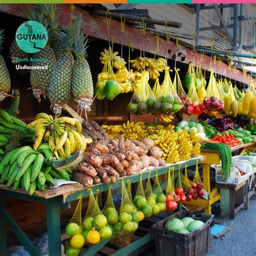
{"type": "Polygon", "coordinates": [[[238,212],[234,220],[229,218],[221,224],[231,231],[222,238],[212,238],[207,256],[253,256],[256,255],[256,198],[250,199],[249,210],[238,212]]]}

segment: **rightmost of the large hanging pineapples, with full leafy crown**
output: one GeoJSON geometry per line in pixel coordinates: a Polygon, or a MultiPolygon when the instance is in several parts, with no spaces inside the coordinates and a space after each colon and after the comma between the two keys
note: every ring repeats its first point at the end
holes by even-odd
{"type": "Polygon", "coordinates": [[[90,111],[93,101],[92,75],[89,63],[86,60],[87,41],[88,39],[78,26],[74,42],[76,60],[73,66],[72,93],[78,103],[78,109],[82,111],[90,111]]]}

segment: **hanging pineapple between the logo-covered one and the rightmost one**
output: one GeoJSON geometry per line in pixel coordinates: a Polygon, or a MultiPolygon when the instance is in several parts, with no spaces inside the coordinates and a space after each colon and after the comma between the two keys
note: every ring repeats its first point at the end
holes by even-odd
{"type": "Polygon", "coordinates": [[[55,69],[52,72],[49,86],[49,99],[51,109],[55,114],[60,114],[71,96],[71,82],[73,69],[73,29],[68,29],[63,37],[64,51],[60,54],[55,69]]]}

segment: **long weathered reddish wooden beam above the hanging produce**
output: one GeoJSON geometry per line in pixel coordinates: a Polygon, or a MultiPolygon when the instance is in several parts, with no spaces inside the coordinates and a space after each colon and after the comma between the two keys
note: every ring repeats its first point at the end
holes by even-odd
{"type": "MultiPolygon", "coordinates": [[[[32,8],[33,5],[30,4],[0,4],[0,11],[6,12],[8,14],[16,15],[19,17],[23,17],[23,12],[28,12],[28,8],[32,8]]],[[[70,25],[70,6],[67,4],[58,4],[59,10],[59,24],[61,26],[69,26],[70,25]]],[[[89,36],[103,39],[105,41],[108,40],[108,33],[106,29],[106,17],[100,17],[98,15],[90,14],[90,12],[85,11],[78,6],[73,11],[73,17],[76,17],[78,14],[83,13],[83,28],[84,33],[89,36]]],[[[120,22],[111,20],[110,24],[110,35],[114,37],[114,41],[117,44],[121,44],[123,41],[123,45],[128,46],[129,41],[132,42],[132,46],[134,49],[140,49],[142,47],[142,31],[139,29],[134,28],[131,25],[125,26],[125,39],[123,40],[123,36],[120,33],[120,22]]],[[[154,53],[154,47],[152,47],[152,42],[156,42],[156,37],[151,35],[150,33],[145,34],[144,37],[144,50],[146,52],[154,53]]],[[[166,55],[166,39],[160,38],[159,40],[159,56],[165,57],[166,55]]],[[[169,50],[171,51],[167,57],[172,59],[173,53],[176,52],[176,43],[170,42],[169,43],[169,50]]],[[[210,71],[211,67],[215,66],[216,72],[220,75],[225,77],[230,77],[234,80],[237,80],[241,83],[247,83],[244,78],[244,74],[237,70],[233,72],[233,69],[230,69],[227,64],[221,63],[220,65],[214,65],[214,60],[211,57],[204,56],[204,59],[201,59],[201,55],[197,53],[196,56],[192,56],[191,49],[186,47],[181,47],[180,52],[184,53],[186,59],[183,63],[190,63],[193,62],[194,65],[201,66],[202,69],[206,69],[210,71]]],[[[179,59],[177,60],[179,62],[179,59]]],[[[254,86],[256,86],[256,80],[252,79],[254,86]]]]}

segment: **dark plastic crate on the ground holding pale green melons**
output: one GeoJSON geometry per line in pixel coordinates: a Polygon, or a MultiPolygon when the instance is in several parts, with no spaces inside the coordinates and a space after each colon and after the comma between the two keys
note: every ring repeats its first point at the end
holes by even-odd
{"type": "Polygon", "coordinates": [[[159,256],[203,256],[210,249],[211,226],[214,225],[214,215],[179,211],[170,217],[151,226],[151,238],[156,240],[156,251],[159,256]],[[181,219],[192,217],[205,224],[199,230],[189,234],[167,231],[164,225],[171,218],[181,219]]]}

